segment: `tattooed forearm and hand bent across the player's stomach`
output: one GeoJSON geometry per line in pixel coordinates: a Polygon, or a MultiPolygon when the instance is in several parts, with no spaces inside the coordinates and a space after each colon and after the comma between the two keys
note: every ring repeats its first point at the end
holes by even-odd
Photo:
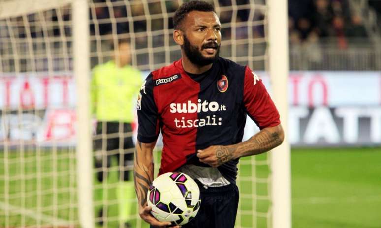
{"type": "Polygon", "coordinates": [[[232,159],[264,153],[282,144],[284,132],[282,125],[262,129],[248,141],[234,145],[210,146],[199,150],[197,157],[201,162],[218,167],[232,159]]]}

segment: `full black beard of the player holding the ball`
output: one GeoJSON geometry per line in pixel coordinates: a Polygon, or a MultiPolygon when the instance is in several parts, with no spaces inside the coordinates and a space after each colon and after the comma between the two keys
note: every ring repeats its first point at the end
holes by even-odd
{"type": "Polygon", "coordinates": [[[212,64],[214,60],[220,56],[220,46],[221,45],[216,42],[209,42],[202,45],[201,50],[205,48],[214,48],[216,50],[214,57],[204,57],[198,47],[192,45],[187,36],[184,35],[184,44],[182,45],[182,48],[184,49],[185,55],[193,64],[202,67],[212,64]]]}

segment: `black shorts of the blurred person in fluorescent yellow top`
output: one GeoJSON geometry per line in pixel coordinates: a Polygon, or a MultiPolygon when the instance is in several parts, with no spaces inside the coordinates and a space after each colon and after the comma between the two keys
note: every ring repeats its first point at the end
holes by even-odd
{"type": "MultiPolygon", "coordinates": [[[[120,122],[98,122],[96,125],[96,135],[93,140],[93,148],[97,151],[102,151],[102,156],[95,156],[95,167],[102,168],[104,164],[109,168],[111,166],[111,157],[115,156],[120,167],[119,176],[123,180],[129,180],[129,171],[133,164],[133,148],[134,144],[132,136],[125,136],[118,133],[132,133],[130,123],[120,122]],[[103,135],[103,136],[102,136],[103,135]],[[123,148],[123,152],[119,149],[123,148]],[[104,154],[103,152],[107,153],[104,154]],[[104,161],[106,160],[106,161],[104,161]]],[[[98,180],[103,181],[104,176],[102,171],[98,172],[98,180]]]]}

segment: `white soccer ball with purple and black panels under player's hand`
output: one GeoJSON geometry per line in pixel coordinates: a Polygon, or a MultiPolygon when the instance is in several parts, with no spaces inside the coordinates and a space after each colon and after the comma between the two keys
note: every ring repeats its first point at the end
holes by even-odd
{"type": "Polygon", "coordinates": [[[181,172],[167,172],[157,177],[150,186],[147,204],[151,214],[172,226],[184,225],[200,209],[200,189],[194,180],[181,172]]]}

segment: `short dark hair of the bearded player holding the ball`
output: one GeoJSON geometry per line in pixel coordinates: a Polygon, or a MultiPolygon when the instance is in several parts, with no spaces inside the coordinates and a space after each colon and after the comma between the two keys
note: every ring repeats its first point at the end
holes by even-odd
{"type": "Polygon", "coordinates": [[[202,12],[215,12],[214,6],[206,1],[192,0],[182,4],[175,12],[173,16],[173,28],[181,29],[181,24],[191,11],[202,11],[202,12]]]}

